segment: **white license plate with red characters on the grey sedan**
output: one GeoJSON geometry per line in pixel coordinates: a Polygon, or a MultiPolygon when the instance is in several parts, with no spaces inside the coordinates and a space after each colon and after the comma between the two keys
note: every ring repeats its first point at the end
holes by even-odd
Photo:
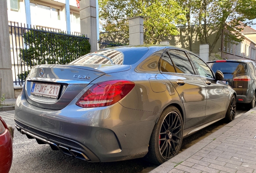
{"type": "Polygon", "coordinates": [[[60,92],[60,84],[33,83],[31,94],[56,99],[60,92]]]}

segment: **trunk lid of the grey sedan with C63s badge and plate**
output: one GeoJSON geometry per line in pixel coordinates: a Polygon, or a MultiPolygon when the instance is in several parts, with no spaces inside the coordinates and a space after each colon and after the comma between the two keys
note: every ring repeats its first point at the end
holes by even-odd
{"type": "Polygon", "coordinates": [[[96,78],[111,72],[129,70],[130,65],[38,65],[25,83],[27,101],[46,109],[63,109],[96,78]]]}

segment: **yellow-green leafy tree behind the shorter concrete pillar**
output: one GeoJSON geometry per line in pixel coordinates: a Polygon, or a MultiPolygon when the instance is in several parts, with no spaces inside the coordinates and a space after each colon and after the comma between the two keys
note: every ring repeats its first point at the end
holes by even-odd
{"type": "Polygon", "coordinates": [[[145,44],[156,44],[167,35],[177,35],[177,24],[185,24],[184,10],[175,0],[99,0],[99,18],[105,31],[125,31],[128,19],[144,16],[145,44]]]}

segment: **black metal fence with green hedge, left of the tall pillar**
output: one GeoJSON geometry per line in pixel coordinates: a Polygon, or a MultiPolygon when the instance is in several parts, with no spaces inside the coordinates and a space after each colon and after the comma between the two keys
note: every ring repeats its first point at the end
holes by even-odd
{"type": "Polygon", "coordinates": [[[10,50],[14,87],[22,86],[37,64],[66,64],[89,53],[89,38],[52,28],[33,28],[10,22],[10,50]]]}

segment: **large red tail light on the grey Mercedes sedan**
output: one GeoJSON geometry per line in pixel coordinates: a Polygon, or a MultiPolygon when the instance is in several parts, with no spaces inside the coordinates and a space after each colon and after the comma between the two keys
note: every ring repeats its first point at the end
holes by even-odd
{"type": "Polygon", "coordinates": [[[105,107],[117,103],[124,98],[135,86],[128,80],[109,80],[94,84],[76,102],[79,107],[105,107]]]}

